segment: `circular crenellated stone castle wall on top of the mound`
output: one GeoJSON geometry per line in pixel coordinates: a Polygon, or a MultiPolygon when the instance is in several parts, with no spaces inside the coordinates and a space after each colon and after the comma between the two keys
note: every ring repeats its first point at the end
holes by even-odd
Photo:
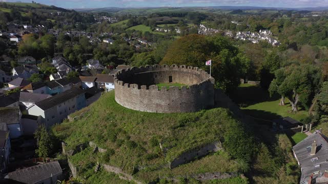
{"type": "Polygon", "coordinates": [[[195,112],[214,106],[214,78],[185,65],[147,65],[122,70],[115,75],[118,104],[146,112],[195,112]],[[158,83],[188,85],[158,88],[158,83]]]}

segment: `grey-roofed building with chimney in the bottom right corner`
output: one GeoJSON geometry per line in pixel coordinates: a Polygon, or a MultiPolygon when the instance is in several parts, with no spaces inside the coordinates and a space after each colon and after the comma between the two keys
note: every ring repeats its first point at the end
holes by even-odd
{"type": "Polygon", "coordinates": [[[301,167],[301,184],[328,182],[328,137],[317,130],[293,146],[293,152],[301,167]]]}

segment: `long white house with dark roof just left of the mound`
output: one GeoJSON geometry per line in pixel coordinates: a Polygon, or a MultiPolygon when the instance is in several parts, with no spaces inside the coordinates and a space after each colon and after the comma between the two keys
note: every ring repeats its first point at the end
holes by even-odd
{"type": "Polygon", "coordinates": [[[63,122],[67,116],[86,106],[85,91],[74,87],[30,106],[28,113],[41,116],[47,127],[63,122]]]}

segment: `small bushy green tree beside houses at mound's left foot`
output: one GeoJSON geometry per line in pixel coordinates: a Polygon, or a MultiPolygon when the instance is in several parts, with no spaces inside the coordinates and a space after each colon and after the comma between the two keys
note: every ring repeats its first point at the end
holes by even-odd
{"type": "Polygon", "coordinates": [[[38,148],[35,150],[35,152],[40,157],[48,157],[52,152],[53,144],[51,141],[51,137],[44,125],[40,125],[36,129],[34,133],[34,138],[37,139],[38,142],[38,148]]]}

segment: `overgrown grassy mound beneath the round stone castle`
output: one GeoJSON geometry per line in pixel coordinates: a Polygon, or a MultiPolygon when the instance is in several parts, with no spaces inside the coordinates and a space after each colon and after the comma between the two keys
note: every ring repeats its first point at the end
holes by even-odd
{"type": "Polygon", "coordinates": [[[248,169],[243,163],[250,162],[253,154],[252,137],[223,108],[193,113],[139,112],[117,104],[112,91],[72,117],[83,112],[79,120],[65,121],[53,131],[67,143],[67,150],[90,141],[107,149],[106,153],[93,153],[87,148],[70,157],[79,174],[87,179],[96,177],[96,162],[119,167],[142,181],[204,172],[239,172],[248,169]],[[177,156],[214,141],[220,141],[226,151],[168,169],[168,162],[177,156]]]}

